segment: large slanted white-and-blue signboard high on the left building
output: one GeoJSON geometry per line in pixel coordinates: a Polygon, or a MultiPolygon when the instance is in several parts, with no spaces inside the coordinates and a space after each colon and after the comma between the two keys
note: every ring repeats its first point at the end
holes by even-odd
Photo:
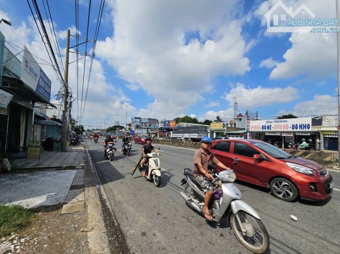
{"type": "Polygon", "coordinates": [[[51,80],[40,68],[37,61],[24,46],[24,56],[21,67],[21,80],[24,81],[41,98],[50,101],[51,80]]]}

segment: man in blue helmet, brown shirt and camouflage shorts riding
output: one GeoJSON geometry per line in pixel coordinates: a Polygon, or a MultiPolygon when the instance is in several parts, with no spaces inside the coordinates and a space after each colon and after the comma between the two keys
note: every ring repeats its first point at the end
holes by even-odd
{"type": "Polygon", "coordinates": [[[212,221],[213,217],[209,211],[209,202],[213,195],[214,189],[222,186],[222,182],[214,178],[214,174],[208,170],[208,165],[216,164],[223,170],[230,170],[220,162],[214,154],[209,150],[211,146],[211,138],[203,137],[201,139],[201,147],[196,150],[194,155],[194,178],[205,193],[203,215],[208,221],[212,221]],[[215,187],[215,188],[214,188],[215,187]]]}

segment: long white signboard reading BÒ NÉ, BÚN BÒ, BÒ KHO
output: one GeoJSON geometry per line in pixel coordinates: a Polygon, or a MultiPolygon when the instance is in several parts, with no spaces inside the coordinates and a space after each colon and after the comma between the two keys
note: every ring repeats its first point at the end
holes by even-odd
{"type": "Polygon", "coordinates": [[[257,120],[250,122],[251,132],[308,132],[311,130],[311,117],[257,120]]]}

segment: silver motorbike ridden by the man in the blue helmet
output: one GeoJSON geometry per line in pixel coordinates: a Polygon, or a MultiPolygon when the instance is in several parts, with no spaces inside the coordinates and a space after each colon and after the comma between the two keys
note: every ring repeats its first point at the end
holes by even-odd
{"type": "MultiPolygon", "coordinates": [[[[234,159],[234,165],[237,159],[234,159]]],[[[209,168],[215,177],[222,181],[222,190],[215,190],[209,204],[210,214],[216,223],[226,218],[231,225],[235,237],[239,242],[254,253],[265,253],[269,249],[269,235],[264,227],[258,213],[246,202],[241,200],[242,194],[239,188],[233,183],[236,175],[225,170],[215,173],[216,168],[209,168]]],[[[181,185],[184,185],[181,197],[187,205],[203,214],[205,194],[195,181],[193,172],[189,168],[183,170],[184,178],[181,185]]]]}

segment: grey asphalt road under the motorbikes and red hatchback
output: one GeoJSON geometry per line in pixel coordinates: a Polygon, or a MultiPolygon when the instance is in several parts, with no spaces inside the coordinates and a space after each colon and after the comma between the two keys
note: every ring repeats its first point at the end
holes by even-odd
{"type": "MultiPolygon", "coordinates": [[[[131,252],[250,253],[226,223],[209,224],[181,198],[183,168],[193,167],[194,150],[155,145],[163,154],[157,188],[138,170],[130,174],[141,145],[133,143],[129,157],[118,151],[110,162],[101,143],[87,140],[87,144],[131,252]]],[[[120,149],[121,140],[116,146],[120,149]]],[[[243,200],[259,213],[269,233],[271,253],[339,253],[340,172],[330,173],[338,190],[326,202],[284,202],[265,188],[236,182],[243,200]],[[292,221],[290,215],[298,220],[292,221]]]]}

